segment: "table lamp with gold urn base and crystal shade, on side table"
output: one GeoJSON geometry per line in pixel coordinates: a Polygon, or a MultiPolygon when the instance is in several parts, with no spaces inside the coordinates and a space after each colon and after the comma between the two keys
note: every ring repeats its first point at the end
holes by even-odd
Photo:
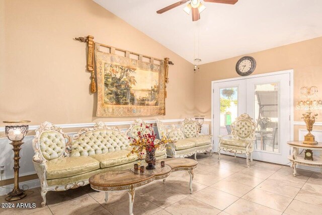
{"type": "Polygon", "coordinates": [[[314,99],[317,93],[317,87],[302,87],[300,89],[300,101],[296,103],[296,110],[306,110],[306,113],[303,113],[302,119],[306,124],[306,129],[308,133],[304,136],[303,144],[316,145],[317,141],[315,141],[315,137],[311,134],[313,129],[313,124],[315,122],[317,114],[313,114],[311,116],[311,110],[319,110],[322,109],[322,101],[319,99],[314,99]]]}

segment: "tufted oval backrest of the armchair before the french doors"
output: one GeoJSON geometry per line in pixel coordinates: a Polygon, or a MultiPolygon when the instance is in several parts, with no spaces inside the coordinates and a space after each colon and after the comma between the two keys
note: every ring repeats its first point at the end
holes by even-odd
{"type": "Polygon", "coordinates": [[[241,114],[231,125],[231,134],[238,139],[252,138],[256,124],[248,114],[241,114]]]}

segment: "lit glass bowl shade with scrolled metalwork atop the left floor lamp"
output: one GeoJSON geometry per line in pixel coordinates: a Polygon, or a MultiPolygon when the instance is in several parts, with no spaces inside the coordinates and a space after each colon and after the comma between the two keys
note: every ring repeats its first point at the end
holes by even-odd
{"type": "Polygon", "coordinates": [[[11,141],[21,141],[24,139],[29,129],[29,120],[24,121],[4,121],[6,136],[11,141]]]}

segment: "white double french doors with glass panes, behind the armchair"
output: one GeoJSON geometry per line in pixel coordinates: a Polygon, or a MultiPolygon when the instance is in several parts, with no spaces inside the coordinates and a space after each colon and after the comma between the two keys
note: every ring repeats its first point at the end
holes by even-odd
{"type": "Polygon", "coordinates": [[[218,135],[230,134],[230,124],[247,113],[257,124],[253,159],[287,164],[290,151],[286,142],[293,135],[291,76],[291,71],[285,71],[213,82],[214,151],[218,135]]]}

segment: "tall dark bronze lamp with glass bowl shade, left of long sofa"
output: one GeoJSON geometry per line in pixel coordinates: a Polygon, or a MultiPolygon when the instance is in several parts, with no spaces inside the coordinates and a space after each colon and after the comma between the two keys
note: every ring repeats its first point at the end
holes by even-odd
{"type": "Polygon", "coordinates": [[[12,142],[10,143],[14,147],[14,172],[15,172],[15,185],[13,191],[8,193],[8,197],[6,197],[7,201],[15,201],[26,197],[26,193],[24,190],[19,188],[19,152],[21,150],[21,145],[24,143],[22,140],[28,133],[28,123],[30,121],[4,121],[5,133],[8,139],[12,142]]]}

